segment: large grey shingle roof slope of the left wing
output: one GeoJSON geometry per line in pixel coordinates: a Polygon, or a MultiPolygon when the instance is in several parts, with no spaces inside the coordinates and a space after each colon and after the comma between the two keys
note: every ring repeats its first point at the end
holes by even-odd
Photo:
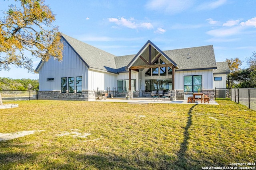
{"type": "MultiPolygon", "coordinates": [[[[62,37],[70,44],[70,46],[78,53],[90,68],[97,68],[109,71],[108,68],[116,69],[114,55],[107,53],[101,49],[93,47],[82,41],[74,39],[62,33],[62,37]]],[[[111,70],[113,71],[113,70],[111,70]]]]}

